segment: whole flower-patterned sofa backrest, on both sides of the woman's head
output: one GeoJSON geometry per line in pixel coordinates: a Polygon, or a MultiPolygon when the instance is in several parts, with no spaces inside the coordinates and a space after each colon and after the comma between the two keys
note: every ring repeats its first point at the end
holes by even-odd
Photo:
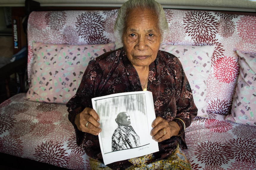
{"type": "MultiPolygon", "coordinates": [[[[164,9],[172,45],[213,45],[207,80],[208,112],[230,114],[239,74],[236,50],[256,54],[256,16],[220,12],[164,9]]],[[[118,9],[110,11],[31,12],[28,20],[28,78],[33,64],[32,43],[106,44],[114,42],[118,9]]]]}

